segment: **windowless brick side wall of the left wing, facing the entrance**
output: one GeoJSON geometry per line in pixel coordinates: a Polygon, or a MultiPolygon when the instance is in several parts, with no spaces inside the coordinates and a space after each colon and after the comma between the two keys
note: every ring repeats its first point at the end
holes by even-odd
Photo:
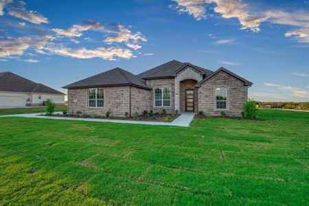
{"type": "Polygon", "coordinates": [[[152,108],[150,100],[151,91],[131,87],[131,115],[143,113],[144,110],[150,111],[152,108]]]}

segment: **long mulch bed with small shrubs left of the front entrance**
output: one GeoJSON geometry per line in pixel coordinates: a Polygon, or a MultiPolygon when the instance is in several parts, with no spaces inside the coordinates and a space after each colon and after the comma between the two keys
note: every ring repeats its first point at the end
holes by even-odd
{"type": "MultiPolygon", "coordinates": [[[[45,115],[43,115],[45,116],[45,115]]],[[[89,116],[79,116],[79,115],[49,115],[50,117],[74,117],[74,118],[87,118],[87,119],[115,119],[115,120],[128,120],[128,121],[145,121],[145,122],[173,122],[174,119],[179,117],[180,115],[162,115],[162,117],[155,116],[155,119],[153,117],[146,117],[145,115],[139,115],[138,119],[135,119],[134,117],[104,117],[104,116],[97,116],[97,117],[89,117],[89,116]],[[165,121],[164,118],[170,116],[170,121],[165,121]]]]}

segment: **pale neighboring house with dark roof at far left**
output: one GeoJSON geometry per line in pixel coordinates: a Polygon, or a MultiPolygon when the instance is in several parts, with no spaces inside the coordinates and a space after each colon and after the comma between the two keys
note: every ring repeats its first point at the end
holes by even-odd
{"type": "Polygon", "coordinates": [[[65,104],[65,93],[10,71],[0,73],[0,107],[41,106],[47,99],[65,104]]]}

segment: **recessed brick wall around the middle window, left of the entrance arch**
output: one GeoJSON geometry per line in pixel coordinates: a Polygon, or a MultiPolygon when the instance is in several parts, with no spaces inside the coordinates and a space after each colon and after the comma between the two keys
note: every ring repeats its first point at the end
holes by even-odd
{"type": "Polygon", "coordinates": [[[161,112],[165,109],[166,113],[175,113],[175,106],[174,106],[174,89],[175,89],[175,82],[174,78],[168,79],[156,79],[156,80],[147,80],[146,84],[153,87],[152,91],[150,92],[150,110],[154,112],[161,112]],[[155,89],[156,88],[170,88],[170,106],[166,107],[157,107],[155,106],[155,89]]]}

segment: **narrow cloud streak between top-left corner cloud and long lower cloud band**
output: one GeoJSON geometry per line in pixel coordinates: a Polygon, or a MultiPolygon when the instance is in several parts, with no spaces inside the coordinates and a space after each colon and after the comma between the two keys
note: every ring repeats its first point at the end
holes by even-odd
{"type": "Polygon", "coordinates": [[[100,25],[100,22],[98,21],[87,21],[82,24],[76,24],[67,30],[62,30],[62,29],[52,29],[52,31],[56,32],[59,36],[69,36],[69,37],[80,37],[82,36],[82,32],[87,31],[87,30],[104,30],[104,27],[100,25]]]}

